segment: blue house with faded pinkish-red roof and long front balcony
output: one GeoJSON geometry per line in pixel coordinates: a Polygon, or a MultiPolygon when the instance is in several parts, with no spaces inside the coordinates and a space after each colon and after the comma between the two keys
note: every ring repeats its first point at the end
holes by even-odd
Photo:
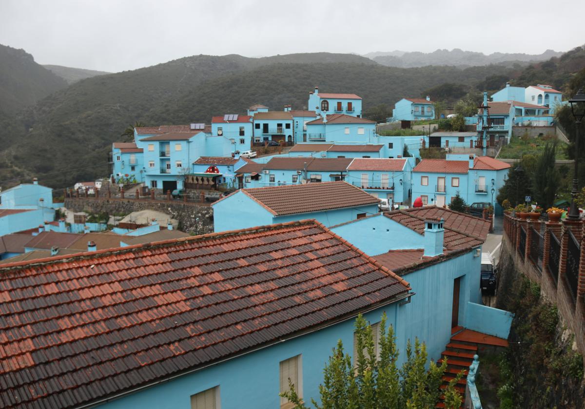
{"type": "Polygon", "coordinates": [[[391,204],[409,204],[412,167],[406,159],[355,158],[345,180],[391,204]]]}

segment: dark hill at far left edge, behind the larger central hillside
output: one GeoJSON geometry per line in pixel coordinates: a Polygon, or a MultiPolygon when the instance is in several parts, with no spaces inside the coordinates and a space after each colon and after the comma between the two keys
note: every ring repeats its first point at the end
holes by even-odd
{"type": "Polygon", "coordinates": [[[66,86],[24,50],[0,44],[0,112],[12,115],[66,86]]]}

